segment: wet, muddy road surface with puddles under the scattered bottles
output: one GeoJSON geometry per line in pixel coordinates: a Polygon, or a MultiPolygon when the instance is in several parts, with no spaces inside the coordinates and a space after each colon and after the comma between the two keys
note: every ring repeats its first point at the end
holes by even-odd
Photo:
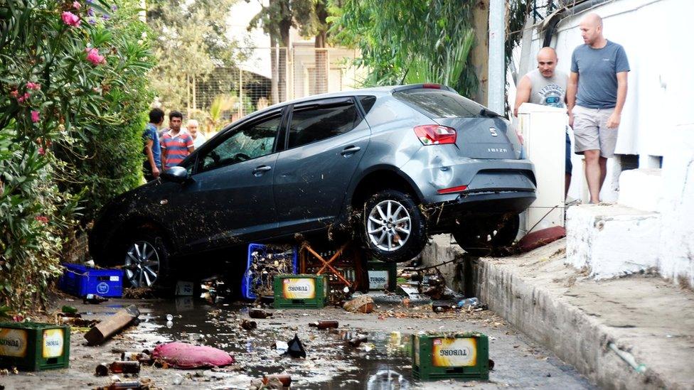
{"type": "MultiPolygon", "coordinates": [[[[319,310],[272,310],[272,318],[255,320],[257,330],[239,326],[248,318],[250,305],[235,302],[209,303],[191,297],[163,299],[111,299],[101,305],[62,299],[52,307],[73,305],[84,318],[103,318],[135,304],[141,323],[130,327],[98,347],[85,345],[84,330],[73,330],[70,367],[45,372],[21,372],[0,376],[5,389],[92,389],[105,386],[110,377],[95,377],[100,362],[113,362],[123,351],[152,350],[168,341],[210,345],[232,353],[233,367],[180,370],[142,367],[140,378],[149,378],[159,389],[247,389],[251,379],[263,374],[288,373],[296,389],[591,389],[593,386],[542,347],[528,341],[502,318],[489,310],[433,313],[430,305],[405,308],[377,305],[374,313],[346,313],[341,308],[319,310]],[[173,315],[167,324],[166,315],[173,315]],[[338,320],[340,330],[317,330],[308,323],[338,320]],[[489,336],[489,354],[495,362],[489,381],[431,381],[412,378],[408,347],[410,335],[422,330],[477,331],[489,336]],[[349,347],[345,331],[368,335],[369,342],[349,347]],[[391,335],[393,331],[400,332],[391,335]],[[294,334],[306,345],[306,359],[279,356],[275,340],[288,341],[294,334]],[[397,380],[384,372],[396,372],[397,380]],[[379,374],[380,373],[380,374],[379,374]],[[176,384],[180,382],[180,384],[176,384]]],[[[50,314],[50,313],[49,313],[50,314]]]]}

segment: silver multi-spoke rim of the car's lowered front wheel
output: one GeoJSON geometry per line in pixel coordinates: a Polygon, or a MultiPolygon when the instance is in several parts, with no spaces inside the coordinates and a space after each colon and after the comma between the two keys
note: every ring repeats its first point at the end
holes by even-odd
{"type": "Polygon", "coordinates": [[[130,245],[124,261],[125,276],[133,287],[149,287],[159,275],[159,253],[150,242],[130,245]]]}

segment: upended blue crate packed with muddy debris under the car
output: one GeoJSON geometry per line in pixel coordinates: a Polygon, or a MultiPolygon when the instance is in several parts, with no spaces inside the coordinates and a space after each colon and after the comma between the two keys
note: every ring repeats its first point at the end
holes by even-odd
{"type": "Polygon", "coordinates": [[[257,293],[273,296],[274,275],[297,273],[295,247],[248,244],[246,271],[241,279],[241,293],[246,299],[257,298],[257,293]]]}

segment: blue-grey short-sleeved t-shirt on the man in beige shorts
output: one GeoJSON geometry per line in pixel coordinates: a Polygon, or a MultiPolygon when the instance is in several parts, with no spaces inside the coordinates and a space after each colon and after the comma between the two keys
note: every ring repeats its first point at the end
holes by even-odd
{"type": "Polygon", "coordinates": [[[580,45],[571,55],[571,71],[578,73],[576,104],[592,109],[613,108],[617,104],[617,73],[629,72],[624,48],[607,41],[601,49],[580,45]]]}

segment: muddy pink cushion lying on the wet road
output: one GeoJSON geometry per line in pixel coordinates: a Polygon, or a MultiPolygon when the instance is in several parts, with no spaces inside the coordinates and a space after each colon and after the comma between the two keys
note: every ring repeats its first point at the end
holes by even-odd
{"type": "Polygon", "coordinates": [[[157,345],[151,356],[156,362],[179,369],[224,367],[235,362],[234,357],[228,352],[186,342],[157,345]]]}

